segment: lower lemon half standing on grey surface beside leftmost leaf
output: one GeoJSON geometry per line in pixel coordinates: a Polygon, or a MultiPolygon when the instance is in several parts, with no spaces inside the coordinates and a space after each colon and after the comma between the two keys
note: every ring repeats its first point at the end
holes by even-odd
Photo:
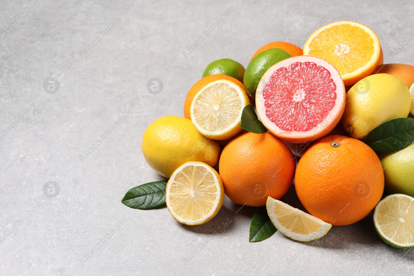
{"type": "Polygon", "coordinates": [[[212,219],[223,204],[224,188],[219,174],[202,162],[187,162],[171,175],[166,204],[171,215],[187,225],[212,219]]]}

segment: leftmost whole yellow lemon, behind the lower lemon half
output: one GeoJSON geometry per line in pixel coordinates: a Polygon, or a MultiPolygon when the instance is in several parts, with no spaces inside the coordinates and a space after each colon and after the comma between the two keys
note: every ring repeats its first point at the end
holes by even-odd
{"type": "Polygon", "coordinates": [[[170,175],[185,162],[217,164],[220,146],[203,136],[191,120],[161,117],[147,127],[142,136],[142,153],[148,165],[160,175],[170,175]]]}

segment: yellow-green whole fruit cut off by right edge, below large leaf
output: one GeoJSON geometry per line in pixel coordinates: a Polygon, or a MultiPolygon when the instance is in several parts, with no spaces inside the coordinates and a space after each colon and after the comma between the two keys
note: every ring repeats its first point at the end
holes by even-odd
{"type": "Polygon", "coordinates": [[[406,148],[380,154],[384,168],[385,190],[390,194],[414,197],[414,143],[406,148]]]}

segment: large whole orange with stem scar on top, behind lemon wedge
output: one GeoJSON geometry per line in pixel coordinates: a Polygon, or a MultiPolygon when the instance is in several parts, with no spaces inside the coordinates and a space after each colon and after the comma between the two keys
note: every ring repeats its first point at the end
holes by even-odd
{"type": "Polygon", "coordinates": [[[380,201],[384,173],[375,152],[358,139],[333,135],[299,160],[295,189],[308,212],[332,225],[366,217],[380,201]]]}

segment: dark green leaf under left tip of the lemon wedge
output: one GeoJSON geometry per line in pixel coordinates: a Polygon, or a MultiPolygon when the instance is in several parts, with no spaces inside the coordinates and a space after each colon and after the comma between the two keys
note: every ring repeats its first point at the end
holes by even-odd
{"type": "Polygon", "coordinates": [[[267,215],[266,208],[262,208],[253,216],[250,223],[249,242],[260,242],[270,238],[275,232],[276,228],[267,215]]]}

